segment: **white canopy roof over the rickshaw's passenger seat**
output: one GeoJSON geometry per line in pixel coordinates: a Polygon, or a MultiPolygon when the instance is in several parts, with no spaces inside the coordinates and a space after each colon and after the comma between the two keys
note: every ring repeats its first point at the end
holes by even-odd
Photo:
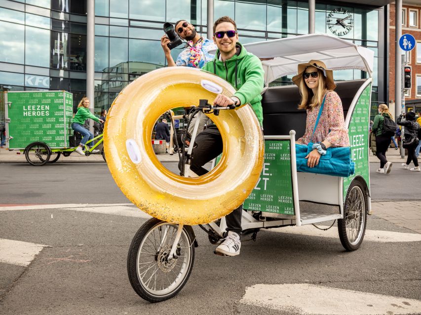
{"type": "Polygon", "coordinates": [[[308,34],[245,44],[248,52],[262,61],[265,84],[288,74],[297,74],[297,65],[320,60],[331,70],[357,69],[371,77],[374,52],[328,34],[308,34]]]}

